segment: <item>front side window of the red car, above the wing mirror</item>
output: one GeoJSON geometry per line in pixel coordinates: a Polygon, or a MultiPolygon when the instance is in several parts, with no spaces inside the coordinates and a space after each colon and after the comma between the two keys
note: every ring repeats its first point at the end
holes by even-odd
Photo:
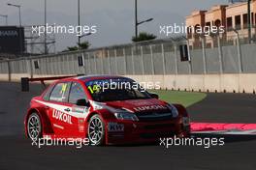
{"type": "Polygon", "coordinates": [[[73,82],[70,90],[69,102],[76,104],[79,99],[87,99],[87,98],[80,83],[73,82]]]}

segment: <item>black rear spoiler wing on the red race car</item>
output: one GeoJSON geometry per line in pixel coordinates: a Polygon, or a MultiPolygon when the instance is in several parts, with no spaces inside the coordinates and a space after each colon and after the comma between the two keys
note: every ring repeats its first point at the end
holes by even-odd
{"type": "Polygon", "coordinates": [[[71,78],[75,76],[81,76],[84,74],[78,74],[78,75],[69,75],[69,76],[51,76],[51,77],[39,77],[39,78],[28,78],[28,77],[21,77],[21,92],[29,92],[29,82],[41,82],[41,84],[44,87],[47,87],[45,81],[51,81],[51,80],[58,80],[63,78],[71,78]]]}

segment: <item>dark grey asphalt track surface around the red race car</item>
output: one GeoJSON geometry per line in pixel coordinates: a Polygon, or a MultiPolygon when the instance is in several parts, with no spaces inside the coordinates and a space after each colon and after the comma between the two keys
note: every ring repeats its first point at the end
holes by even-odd
{"type": "MultiPolygon", "coordinates": [[[[0,170],[7,169],[256,169],[256,137],[225,137],[224,146],[159,145],[109,147],[43,147],[38,149],[23,136],[23,117],[29,100],[42,91],[32,85],[21,93],[19,84],[0,82],[0,170]]],[[[188,108],[193,122],[256,123],[256,96],[208,94],[188,108]]]]}

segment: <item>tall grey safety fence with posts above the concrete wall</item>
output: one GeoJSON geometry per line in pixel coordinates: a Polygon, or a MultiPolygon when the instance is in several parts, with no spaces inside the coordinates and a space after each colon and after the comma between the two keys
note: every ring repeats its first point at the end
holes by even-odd
{"type": "Polygon", "coordinates": [[[212,74],[255,73],[256,44],[236,44],[188,50],[186,40],[163,40],[0,61],[1,74],[212,74]]]}

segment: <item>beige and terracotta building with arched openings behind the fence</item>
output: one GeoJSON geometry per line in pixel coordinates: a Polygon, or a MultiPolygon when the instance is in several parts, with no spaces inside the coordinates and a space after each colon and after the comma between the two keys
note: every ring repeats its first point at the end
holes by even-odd
{"type": "MultiPolygon", "coordinates": [[[[186,17],[186,26],[224,26],[225,33],[220,35],[220,38],[225,42],[233,43],[234,38],[237,38],[236,29],[240,34],[240,39],[248,40],[248,22],[247,22],[247,3],[235,3],[230,5],[217,5],[210,8],[208,11],[197,11],[186,17]]],[[[252,38],[255,39],[255,24],[256,24],[256,0],[251,2],[251,24],[252,38]]],[[[202,42],[197,34],[188,32],[187,38],[190,45],[201,47],[202,42]]],[[[206,45],[214,47],[217,45],[216,39],[213,36],[206,37],[206,45]]]]}

